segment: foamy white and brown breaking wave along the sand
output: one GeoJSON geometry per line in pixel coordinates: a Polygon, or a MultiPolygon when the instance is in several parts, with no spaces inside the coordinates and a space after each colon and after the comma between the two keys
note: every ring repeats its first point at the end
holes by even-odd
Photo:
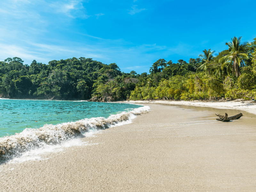
{"type": "Polygon", "coordinates": [[[136,115],[148,111],[149,107],[143,106],[130,112],[111,115],[108,118],[96,117],[57,125],[45,124],[38,129],[26,128],[15,135],[0,138],[0,161],[4,163],[14,157],[21,156],[28,150],[43,148],[46,144],[56,145],[74,138],[84,137],[85,133],[90,130],[106,129],[131,123],[136,115]]]}

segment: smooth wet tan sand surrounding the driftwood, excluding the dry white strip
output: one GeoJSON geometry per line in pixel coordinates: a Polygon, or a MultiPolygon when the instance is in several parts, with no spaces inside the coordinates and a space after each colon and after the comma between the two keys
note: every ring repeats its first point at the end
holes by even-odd
{"type": "Polygon", "coordinates": [[[0,165],[0,191],[255,191],[254,114],[146,105],[151,112],[83,138],[86,146],[0,165]],[[244,116],[215,120],[225,112],[244,116]]]}

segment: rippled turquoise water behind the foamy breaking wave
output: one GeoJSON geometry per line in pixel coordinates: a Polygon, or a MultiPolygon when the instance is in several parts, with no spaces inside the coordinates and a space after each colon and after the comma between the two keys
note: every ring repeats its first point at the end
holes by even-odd
{"type": "Polygon", "coordinates": [[[109,117],[141,106],[57,100],[0,100],[0,137],[39,128],[44,124],[75,122],[84,118],[109,117]]]}

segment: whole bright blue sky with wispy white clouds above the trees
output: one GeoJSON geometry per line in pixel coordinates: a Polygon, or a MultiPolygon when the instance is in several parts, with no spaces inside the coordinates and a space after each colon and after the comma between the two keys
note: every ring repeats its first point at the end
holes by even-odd
{"type": "Polygon", "coordinates": [[[149,72],[158,59],[216,53],[256,37],[255,0],[1,0],[0,61],[92,58],[149,72]]]}

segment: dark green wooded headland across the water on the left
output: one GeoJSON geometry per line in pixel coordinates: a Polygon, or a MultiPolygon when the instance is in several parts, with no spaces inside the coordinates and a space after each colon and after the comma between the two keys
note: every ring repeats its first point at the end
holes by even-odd
{"type": "Polygon", "coordinates": [[[30,65],[23,62],[18,57],[0,61],[2,97],[90,99],[99,87],[113,81],[120,88],[114,99],[126,99],[135,88],[134,75],[122,73],[116,63],[106,65],[84,57],[52,60],[47,65],[36,60],[30,65]]]}

